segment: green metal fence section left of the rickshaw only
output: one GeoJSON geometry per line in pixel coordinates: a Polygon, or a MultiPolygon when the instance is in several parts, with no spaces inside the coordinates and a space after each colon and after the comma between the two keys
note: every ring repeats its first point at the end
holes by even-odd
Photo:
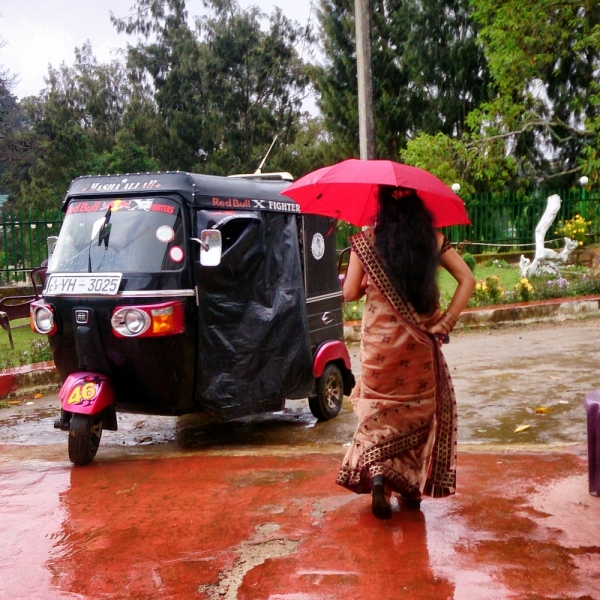
{"type": "Polygon", "coordinates": [[[29,271],[48,258],[47,240],[58,235],[60,210],[0,209],[0,285],[26,282],[29,271]]]}

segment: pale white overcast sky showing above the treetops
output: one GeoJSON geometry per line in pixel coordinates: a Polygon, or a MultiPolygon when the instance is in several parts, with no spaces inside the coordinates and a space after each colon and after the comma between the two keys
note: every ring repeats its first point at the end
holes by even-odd
{"type": "MultiPolygon", "coordinates": [[[[245,8],[257,5],[270,14],[279,6],[286,16],[306,25],[309,17],[315,23],[311,0],[238,0],[245,8]]],[[[316,6],[316,0],[314,0],[316,6]]],[[[110,22],[110,12],[123,17],[130,13],[135,0],[2,0],[0,2],[0,66],[17,75],[12,89],[18,98],[37,94],[44,87],[48,65],[72,65],[74,49],[86,40],[92,44],[94,56],[109,62],[119,48],[133,41],[117,34],[110,22]]],[[[204,14],[201,0],[188,0],[190,17],[204,14]]],[[[192,21],[193,22],[193,21],[192,21]]]]}

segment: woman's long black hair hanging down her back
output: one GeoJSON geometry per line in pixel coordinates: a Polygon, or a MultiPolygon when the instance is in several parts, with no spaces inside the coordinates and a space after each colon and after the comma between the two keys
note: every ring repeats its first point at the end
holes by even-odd
{"type": "Polygon", "coordinates": [[[435,311],[440,298],[436,280],[440,253],[433,217],[413,190],[380,188],[375,247],[392,283],[417,313],[435,311]]]}

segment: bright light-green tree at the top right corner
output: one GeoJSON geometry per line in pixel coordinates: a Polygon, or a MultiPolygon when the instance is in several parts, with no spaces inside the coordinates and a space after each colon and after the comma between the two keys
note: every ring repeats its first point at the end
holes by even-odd
{"type": "MultiPolygon", "coordinates": [[[[460,139],[422,136],[407,161],[452,163],[471,189],[573,185],[600,171],[600,5],[575,0],[473,0],[496,91],[472,110],[460,139]],[[440,146],[446,151],[440,152],[440,146]],[[456,156],[456,155],[455,155],[456,156]],[[482,160],[483,159],[483,160],[482,160]],[[483,164],[485,163],[485,164],[483,164]]],[[[411,164],[413,164],[411,162],[411,164]]]]}

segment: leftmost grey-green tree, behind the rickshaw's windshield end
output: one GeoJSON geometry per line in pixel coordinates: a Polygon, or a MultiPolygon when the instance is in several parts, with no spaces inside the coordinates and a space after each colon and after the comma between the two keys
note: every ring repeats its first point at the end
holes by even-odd
{"type": "Polygon", "coordinates": [[[131,111],[149,100],[118,61],[99,64],[85,44],[72,67],[49,69],[46,85],[19,104],[30,126],[12,136],[15,152],[3,177],[13,204],[58,207],[80,175],[156,168],[145,140],[125,131],[131,111]]]}

